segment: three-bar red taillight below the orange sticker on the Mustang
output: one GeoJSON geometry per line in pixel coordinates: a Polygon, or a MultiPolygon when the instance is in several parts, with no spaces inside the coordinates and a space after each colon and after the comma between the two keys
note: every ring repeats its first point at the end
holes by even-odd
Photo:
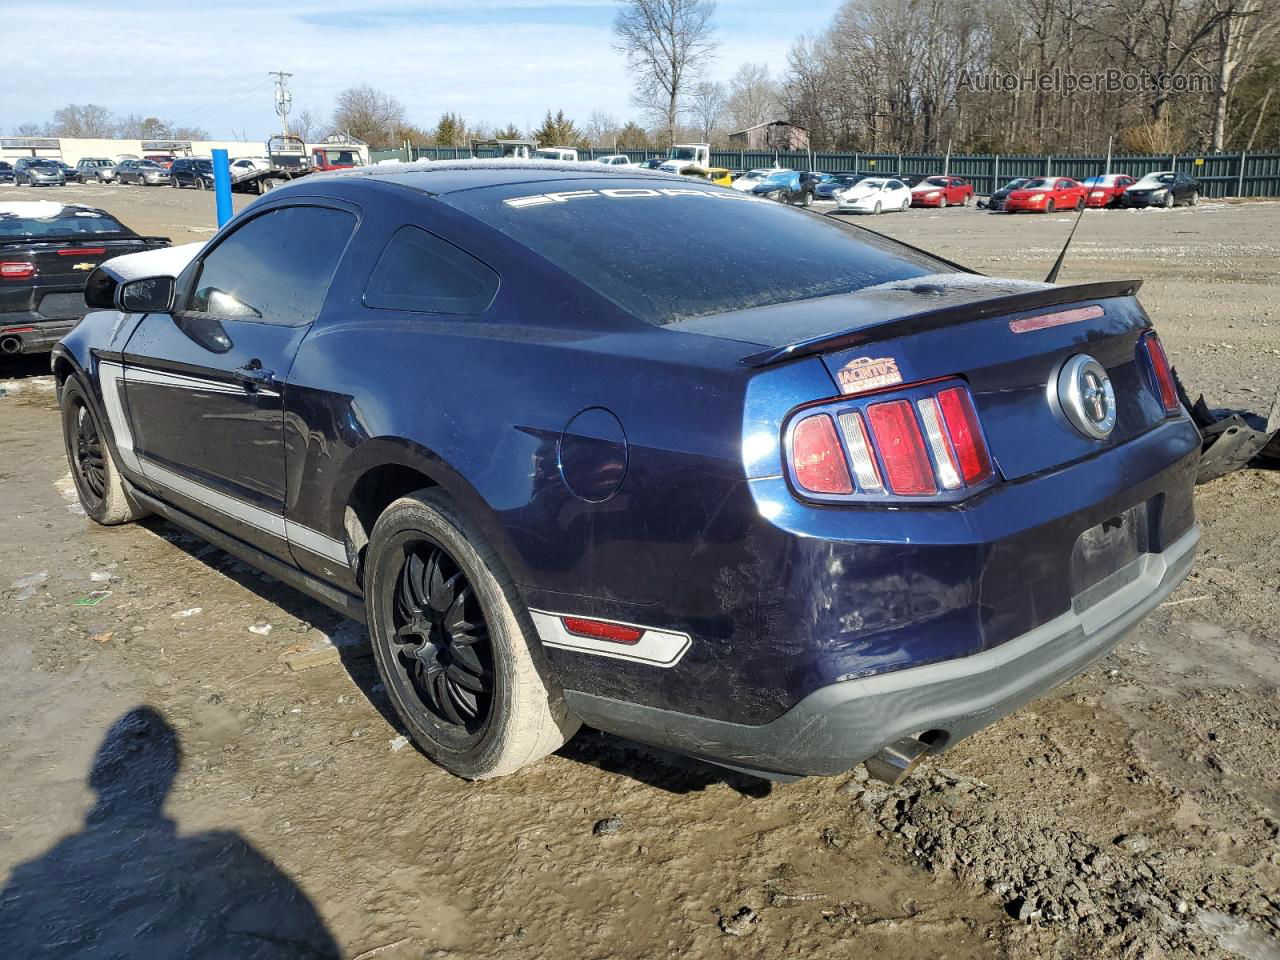
{"type": "Polygon", "coordinates": [[[786,451],[796,489],[815,499],[957,500],[996,476],[959,380],[804,410],[791,421],[786,451]]]}

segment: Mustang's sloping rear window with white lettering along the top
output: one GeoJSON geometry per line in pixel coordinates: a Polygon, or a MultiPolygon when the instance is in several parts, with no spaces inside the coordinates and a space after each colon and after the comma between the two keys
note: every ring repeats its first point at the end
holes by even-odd
{"type": "Polygon", "coordinates": [[[710,184],[611,177],[439,200],[654,324],[956,269],[832,218],[710,184]]]}

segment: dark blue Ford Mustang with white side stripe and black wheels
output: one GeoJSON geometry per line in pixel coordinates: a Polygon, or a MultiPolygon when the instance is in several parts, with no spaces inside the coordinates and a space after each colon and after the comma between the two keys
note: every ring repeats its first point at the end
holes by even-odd
{"type": "Polygon", "coordinates": [[[310,177],[157,256],[55,351],[84,508],[367,620],[463,777],[586,722],[893,780],[1192,564],[1199,436],[1133,282],[520,163],[310,177]]]}

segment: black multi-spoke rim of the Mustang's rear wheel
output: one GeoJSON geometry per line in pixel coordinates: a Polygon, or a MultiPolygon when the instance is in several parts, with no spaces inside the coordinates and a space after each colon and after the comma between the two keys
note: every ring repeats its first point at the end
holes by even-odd
{"type": "Polygon", "coordinates": [[[396,678],[454,733],[483,732],[494,692],[489,626],[466,573],[429,539],[403,544],[394,588],[396,678]]]}

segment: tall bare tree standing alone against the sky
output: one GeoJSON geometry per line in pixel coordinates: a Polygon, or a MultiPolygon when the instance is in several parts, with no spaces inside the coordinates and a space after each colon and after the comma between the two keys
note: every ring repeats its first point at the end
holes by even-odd
{"type": "Polygon", "coordinates": [[[636,73],[635,102],[663,116],[676,140],[681,97],[716,52],[712,0],[620,0],[614,47],[636,73]]]}

